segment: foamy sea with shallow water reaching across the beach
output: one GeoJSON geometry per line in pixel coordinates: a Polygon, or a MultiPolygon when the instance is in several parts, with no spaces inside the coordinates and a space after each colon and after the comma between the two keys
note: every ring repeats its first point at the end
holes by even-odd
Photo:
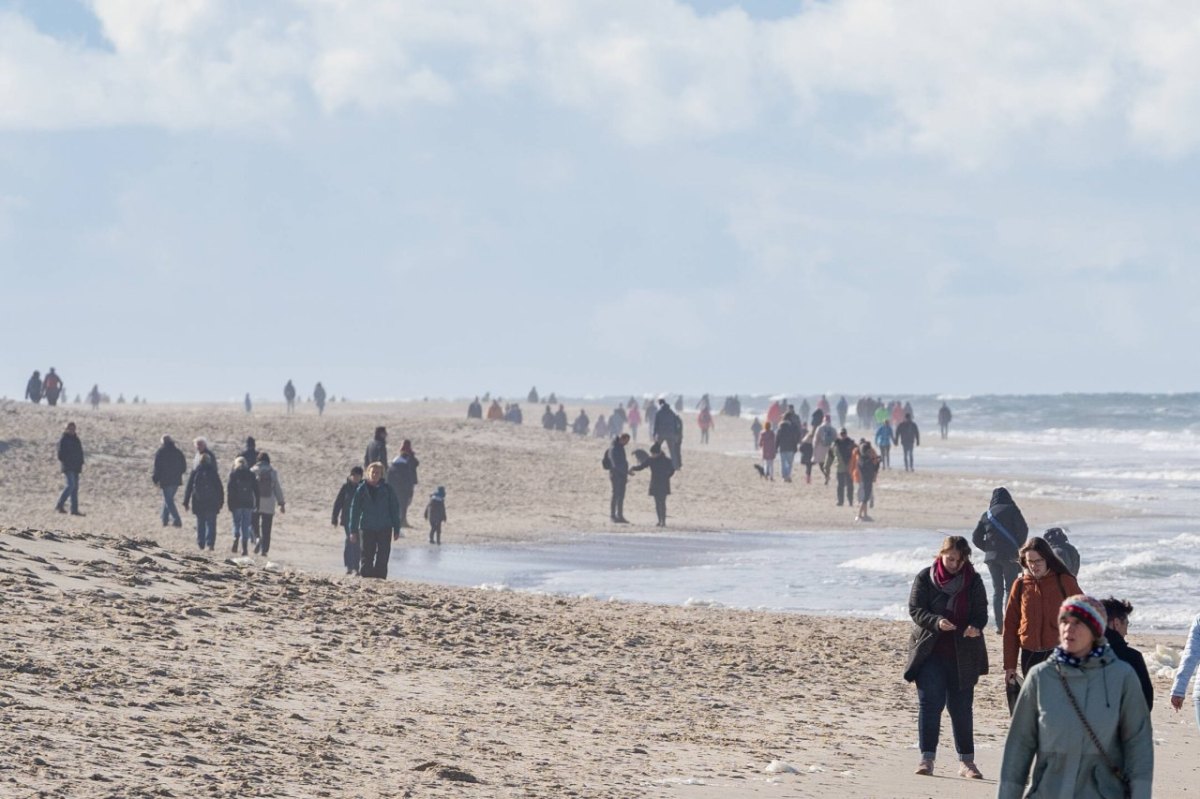
{"type": "MultiPolygon", "coordinates": [[[[847,397],[852,432],[856,398],[847,397]]],[[[1200,395],[948,398],[950,435],[965,444],[954,447],[937,445],[942,398],[911,401],[925,443],[918,469],[978,474],[982,497],[991,487],[983,475],[1004,474],[1018,503],[1086,499],[1129,512],[1120,522],[1070,525],[1084,590],[1128,599],[1144,629],[1183,630],[1200,612],[1200,395]]],[[[762,413],[767,403],[745,397],[743,409],[762,413]]],[[[886,491],[881,485],[881,507],[886,491]]],[[[569,535],[553,543],[398,549],[392,567],[401,578],[457,585],[904,619],[916,573],[946,534],[970,536],[977,518],[937,531],[569,535]]],[[[988,571],[977,565],[990,593],[988,571]]]]}

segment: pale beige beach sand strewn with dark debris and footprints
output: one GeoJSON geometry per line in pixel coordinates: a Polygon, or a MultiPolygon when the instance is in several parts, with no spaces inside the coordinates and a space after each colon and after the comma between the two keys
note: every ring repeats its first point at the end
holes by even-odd
{"type": "MultiPolygon", "coordinates": [[[[413,439],[426,493],[448,487],[448,541],[619,529],[607,523],[601,443],[467,422],[463,410],[334,405],[318,420],[311,408],[290,417],[277,408],[0,408],[0,795],[995,793],[1006,720],[995,674],[976,701],[989,779],[952,776],[948,728],[944,777],[911,774],[905,624],[336,576],[341,534],[329,506],[376,423],[391,431],[390,449],[413,439]],[[54,444],[68,417],[88,455],[84,518],[52,509],[54,444]],[[224,560],[227,515],[217,557],[194,552],[190,527],[160,527],[149,474],[164,432],[206,435],[222,469],[246,434],[271,452],[289,500],[272,545],[278,571],[224,560]],[[772,761],[800,773],[768,774],[772,761]]],[[[673,528],[852,527],[832,488],[760,481],[746,423],[718,423],[707,451],[689,431],[673,528]]],[[[962,444],[926,440],[947,445],[962,444]]],[[[968,531],[1001,480],[1020,475],[886,473],[876,518],[968,531]]],[[[1115,512],[1019,498],[1036,527],[1115,512]]],[[[643,523],[632,529],[653,521],[644,480],[635,477],[626,507],[643,523]]],[[[997,643],[989,636],[994,667],[997,643]]],[[[1166,707],[1165,679],[1158,687],[1156,795],[1192,795],[1200,735],[1166,707]]]]}

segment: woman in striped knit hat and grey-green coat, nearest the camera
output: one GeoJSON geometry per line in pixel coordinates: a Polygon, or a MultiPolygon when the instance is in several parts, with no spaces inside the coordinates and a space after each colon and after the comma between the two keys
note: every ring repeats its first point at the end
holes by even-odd
{"type": "Polygon", "coordinates": [[[1013,708],[997,799],[1150,799],[1150,711],[1138,675],[1104,641],[1104,605],[1073,595],[1051,615],[1058,644],[1013,708]]]}

